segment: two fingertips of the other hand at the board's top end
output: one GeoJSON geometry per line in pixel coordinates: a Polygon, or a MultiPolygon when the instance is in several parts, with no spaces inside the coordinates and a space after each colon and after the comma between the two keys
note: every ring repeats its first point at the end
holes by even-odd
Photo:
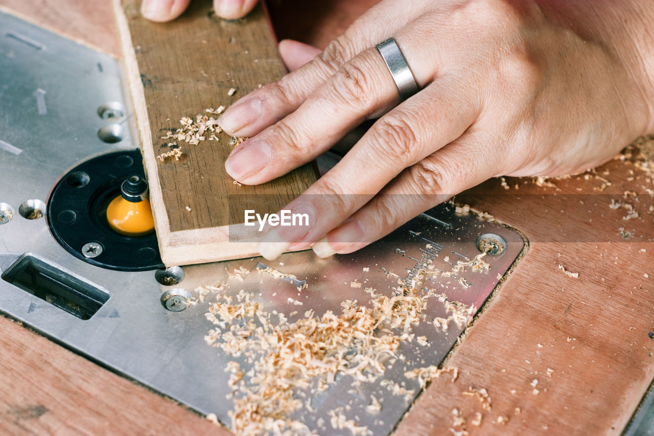
{"type": "MultiPolygon", "coordinates": [[[[197,1],[197,0],[196,0],[197,1]]],[[[213,0],[216,14],[226,20],[247,15],[258,0],[213,0]]],[[[143,0],[141,14],[148,20],[165,22],[175,20],[186,10],[191,0],[143,0]]]]}

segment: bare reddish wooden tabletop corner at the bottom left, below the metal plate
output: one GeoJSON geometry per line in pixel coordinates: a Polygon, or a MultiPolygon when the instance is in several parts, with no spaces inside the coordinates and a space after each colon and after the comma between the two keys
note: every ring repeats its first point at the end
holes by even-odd
{"type": "Polygon", "coordinates": [[[0,332],[0,434],[232,434],[2,316],[0,332]]]}

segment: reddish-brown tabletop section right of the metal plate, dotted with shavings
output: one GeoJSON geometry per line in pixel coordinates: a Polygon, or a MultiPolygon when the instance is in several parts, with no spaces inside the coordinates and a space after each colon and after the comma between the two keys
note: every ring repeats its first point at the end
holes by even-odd
{"type": "Polygon", "coordinates": [[[455,408],[468,422],[483,414],[470,435],[623,431],[654,377],[653,181],[619,160],[597,172],[612,185],[602,189],[594,174],[556,187],[508,179],[509,190],[493,180],[458,196],[519,228],[530,246],[447,361],[458,380],[434,380],[396,435],[444,434],[455,408]],[[611,199],[640,216],[624,220],[627,210],[611,209],[611,199]],[[634,236],[623,238],[620,227],[634,236]],[[490,412],[462,395],[469,386],[489,391],[490,412]]]}

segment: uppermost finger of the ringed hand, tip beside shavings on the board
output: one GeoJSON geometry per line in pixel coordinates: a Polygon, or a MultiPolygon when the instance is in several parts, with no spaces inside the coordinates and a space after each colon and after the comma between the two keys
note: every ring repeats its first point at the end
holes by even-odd
{"type": "Polygon", "coordinates": [[[237,100],[219,118],[222,130],[232,136],[252,137],[297,109],[343,64],[357,54],[395,35],[418,16],[426,3],[382,1],[356,20],[324,52],[281,80],[258,88],[237,100]],[[407,10],[411,11],[407,13],[407,10]],[[388,16],[397,19],[388,22],[388,16]]]}

